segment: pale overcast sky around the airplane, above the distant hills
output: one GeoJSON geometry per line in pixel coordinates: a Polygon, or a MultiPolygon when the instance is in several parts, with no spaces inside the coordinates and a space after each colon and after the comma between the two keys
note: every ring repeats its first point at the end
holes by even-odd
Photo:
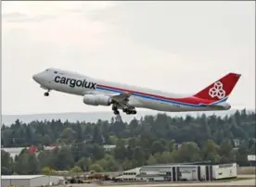
{"type": "Polygon", "coordinates": [[[3,114],[110,111],[44,90],[32,74],[70,69],[177,94],[224,74],[229,102],[255,108],[255,2],[2,2],[3,114]]]}

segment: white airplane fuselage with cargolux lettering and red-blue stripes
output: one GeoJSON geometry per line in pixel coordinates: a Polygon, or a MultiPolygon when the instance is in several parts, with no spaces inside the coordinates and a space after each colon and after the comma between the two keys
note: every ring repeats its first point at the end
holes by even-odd
{"type": "MultiPolygon", "coordinates": [[[[170,94],[118,82],[102,81],[61,69],[46,69],[36,74],[33,79],[45,89],[81,96],[85,94],[113,95],[132,92],[134,94],[129,97],[128,104],[134,107],[170,112],[214,110],[208,106],[175,101],[175,99],[191,95],[170,94]]],[[[230,108],[226,103],[222,103],[222,105],[227,105],[226,109],[230,108]]]]}

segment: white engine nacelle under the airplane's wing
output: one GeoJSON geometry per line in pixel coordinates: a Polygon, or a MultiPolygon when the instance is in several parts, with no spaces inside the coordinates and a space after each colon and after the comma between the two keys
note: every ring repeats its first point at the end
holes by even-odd
{"type": "Polygon", "coordinates": [[[89,106],[110,106],[111,97],[102,94],[85,94],[83,103],[89,106]]]}

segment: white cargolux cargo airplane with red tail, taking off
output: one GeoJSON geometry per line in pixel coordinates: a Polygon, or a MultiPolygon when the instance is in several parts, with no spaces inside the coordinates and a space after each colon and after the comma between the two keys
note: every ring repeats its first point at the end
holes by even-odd
{"type": "Polygon", "coordinates": [[[159,90],[128,84],[98,80],[77,72],[63,69],[45,69],[32,75],[32,79],[50,91],[83,96],[89,106],[111,106],[115,115],[120,111],[135,115],[136,108],[147,108],[163,112],[228,110],[227,99],[241,74],[230,72],[197,94],[171,94],[159,90]]]}

